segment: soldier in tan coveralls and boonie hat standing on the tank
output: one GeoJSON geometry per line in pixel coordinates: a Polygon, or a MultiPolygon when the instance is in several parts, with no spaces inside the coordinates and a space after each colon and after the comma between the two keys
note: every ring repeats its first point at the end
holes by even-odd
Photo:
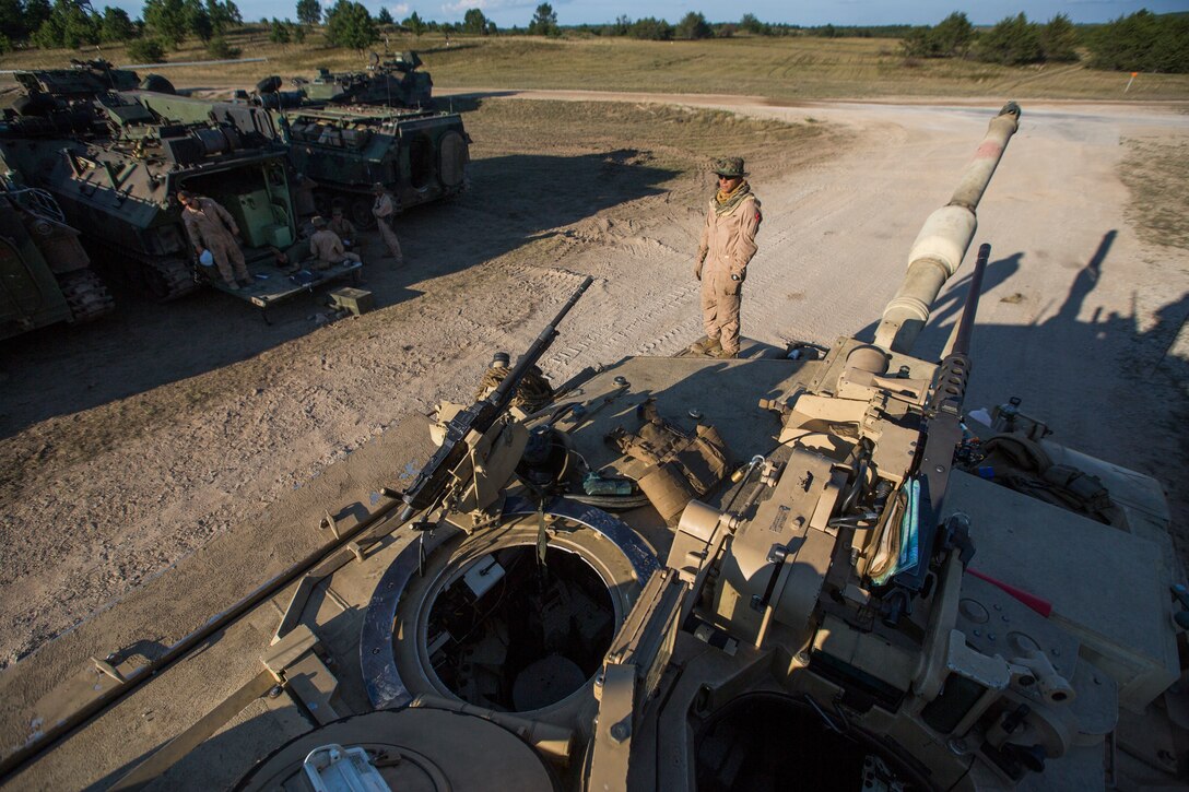
{"type": "Polygon", "coordinates": [[[744,178],[741,157],[715,163],[718,191],[710,199],[698,243],[693,276],[702,281],[702,321],[706,335],[691,352],[734,358],[740,352],[740,302],[747,265],[757,250],[760,200],[744,178]]]}

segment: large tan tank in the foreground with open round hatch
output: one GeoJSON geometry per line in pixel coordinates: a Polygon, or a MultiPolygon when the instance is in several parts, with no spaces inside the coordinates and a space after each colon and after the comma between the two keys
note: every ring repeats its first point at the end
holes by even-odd
{"type": "Polygon", "coordinates": [[[992,120],[873,341],[627,358],[554,388],[534,366],[586,278],[473,404],[439,408],[403,485],[409,457],[370,503],[327,510],[325,551],[26,705],[2,769],[108,788],[1181,788],[1189,595],[1159,486],[1014,403],[967,413],[989,246],[943,358],[912,354],[1018,122],[1014,105],[992,120]],[[216,705],[181,697],[213,685],[216,705]]]}

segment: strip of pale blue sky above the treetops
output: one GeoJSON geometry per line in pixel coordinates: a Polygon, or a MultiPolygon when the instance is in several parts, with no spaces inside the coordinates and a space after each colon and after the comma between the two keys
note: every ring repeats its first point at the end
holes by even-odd
{"type": "MultiPolygon", "coordinates": [[[[360,0],[373,14],[386,7],[395,19],[414,11],[426,20],[461,21],[468,8],[479,8],[498,27],[528,25],[542,0],[360,0]]],[[[99,8],[119,6],[139,17],[137,0],[92,0],[99,8]]],[[[235,0],[244,19],[296,18],[296,0],[235,0]]],[[[322,0],[323,6],[333,5],[322,0]]],[[[562,25],[611,23],[618,17],[656,17],[679,21],[691,11],[711,23],[738,21],[755,14],[760,21],[791,25],[936,25],[955,11],[965,12],[975,25],[992,25],[1021,11],[1033,21],[1065,14],[1075,23],[1101,23],[1132,14],[1140,8],[1153,13],[1189,11],[1189,0],[743,0],[738,5],[698,0],[552,0],[562,25]]]]}

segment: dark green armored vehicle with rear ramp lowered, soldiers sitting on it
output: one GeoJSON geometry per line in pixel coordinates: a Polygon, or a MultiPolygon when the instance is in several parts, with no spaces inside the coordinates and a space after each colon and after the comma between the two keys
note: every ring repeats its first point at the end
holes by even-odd
{"type": "Polygon", "coordinates": [[[182,225],[180,189],[232,213],[250,268],[271,266],[276,250],[296,241],[284,151],[260,131],[271,119],[246,107],[231,115],[181,122],[134,92],[55,98],[36,112],[6,112],[0,166],[52,194],[108,271],[171,300],[203,279],[182,225]]]}

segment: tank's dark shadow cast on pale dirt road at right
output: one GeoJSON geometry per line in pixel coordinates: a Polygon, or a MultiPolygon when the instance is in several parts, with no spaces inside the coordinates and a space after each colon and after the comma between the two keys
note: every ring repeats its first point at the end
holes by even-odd
{"type": "MultiPolygon", "coordinates": [[[[1011,396],[1023,400],[1023,409],[1045,421],[1056,432],[1053,440],[1137,470],[1159,480],[1169,497],[1175,540],[1184,558],[1189,532],[1176,528],[1189,514],[1189,483],[1177,471],[1189,454],[1189,360],[1172,347],[1189,320],[1189,295],[1172,296],[1144,327],[1144,319],[1130,313],[1094,310],[1084,316],[1089,296],[1106,268],[1116,231],[1102,235],[1096,250],[1081,268],[1070,290],[1039,295],[1056,306],[1046,319],[1028,325],[976,322],[974,360],[965,409],[990,408],[1011,396]]],[[[1024,253],[990,262],[987,266],[981,306],[989,301],[1012,302],[1011,277],[1028,263],[1024,253]],[[992,296],[996,287],[1008,296],[992,296]]],[[[938,300],[929,326],[913,353],[937,359],[957,321],[969,288],[969,270],[938,300]]],[[[870,340],[876,322],[857,334],[870,340]]]]}

